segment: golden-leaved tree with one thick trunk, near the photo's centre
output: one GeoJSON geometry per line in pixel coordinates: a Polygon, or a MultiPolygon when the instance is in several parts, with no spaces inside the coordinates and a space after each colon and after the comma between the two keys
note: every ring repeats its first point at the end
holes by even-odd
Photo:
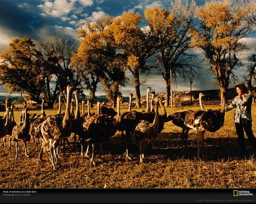
{"type": "Polygon", "coordinates": [[[110,38],[114,38],[116,47],[122,49],[128,56],[127,69],[132,73],[136,95],[136,107],[140,107],[140,74],[149,73],[150,67],[146,60],[156,52],[157,39],[151,31],[144,32],[138,26],[142,21],[139,13],[123,12],[122,16],[114,18],[108,27],[110,38]]]}

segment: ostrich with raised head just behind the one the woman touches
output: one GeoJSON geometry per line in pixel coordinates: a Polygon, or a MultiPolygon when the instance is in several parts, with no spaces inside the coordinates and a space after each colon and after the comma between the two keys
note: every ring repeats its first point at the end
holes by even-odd
{"type": "Polygon", "coordinates": [[[187,147],[187,140],[188,140],[188,131],[191,129],[187,125],[190,124],[192,126],[193,121],[195,118],[204,113],[205,109],[202,103],[202,97],[205,96],[202,92],[199,93],[199,103],[201,107],[201,111],[182,111],[182,112],[176,112],[171,115],[168,115],[165,122],[172,121],[172,123],[180,128],[182,128],[181,132],[181,152],[184,153],[185,149],[187,147]],[[190,119],[189,117],[190,116],[190,119]],[[186,121],[186,122],[185,122],[186,121]],[[184,142],[185,139],[185,142],[184,142]]]}

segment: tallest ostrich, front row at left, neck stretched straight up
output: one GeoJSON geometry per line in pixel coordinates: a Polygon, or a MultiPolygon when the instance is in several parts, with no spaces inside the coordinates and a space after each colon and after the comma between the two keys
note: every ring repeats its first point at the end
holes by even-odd
{"type": "MultiPolygon", "coordinates": [[[[71,134],[71,117],[70,117],[70,92],[72,86],[67,86],[67,104],[65,116],[56,114],[44,120],[41,125],[41,133],[44,140],[49,140],[49,148],[52,159],[53,170],[55,170],[55,163],[58,163],[55,145],[58,140],[64,139],[71,134]]],[[[43,146],[42,146],[43,147],[43,146]]]]}

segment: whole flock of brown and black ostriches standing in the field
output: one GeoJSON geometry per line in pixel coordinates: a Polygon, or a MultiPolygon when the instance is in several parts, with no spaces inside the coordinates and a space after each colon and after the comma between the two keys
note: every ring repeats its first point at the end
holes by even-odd
{"type": "Polygon", "coordinates": [[[201,159],[200,146],[201,143],[204,148],[204,154],[206,155],[206,149],[204,147],[204,133],[206,131],[215,132],[220,129],[224,124],[224,109],[216,109],[208,111],[204,110],[202,105],[202,97],[204,94],[199,94],[199,102],[201,106],[200,111],[183,111],[173,113],[167,116],[165,108],[163,106],[163,97],[155,96],[155,91],[151,91],[151,88],[147,88],[147,109],[138,112],[131,110],[132,93],[129,94],[129,108],[127,112],[120,113],[120,101],[121,96],[117,97],[117,113],[114,109],[104,106],[104,103],[97,103],[98,113],[90,113],[91,100],[87,100],[88,112],[84,112],[84,103],[82,101],[83,111],[80,113],[78,105],[79,90],[75,90],[75,101],[70,98],[70,93],[73,91],[73,87],[67,87],[67,103],[65,113],[61,113],[61,99],[59,97],[59,111],[55,115],[47,115],[44,113],[44,101],[42,98],[42,110],[41,114],[29,114],[27,112],[26,103],[22,113],[20,114],[19,124],[16,124],[13,116],[14,105],[10,103],[9,99],[6,100],[6,113],[4,116],[0,116],[0,137],[3,137],[2,148],[5,148],[6,135],[10,135],[9,149],[11,148],[11,141],[16,142],[16,160],[18,158],[18,149],[20,147],[20,141],[24,142],[24,149],[26,157],[29,157],[27,153],[26,142],[30,141],[32,136],[33,142],[36,141],[36,145],[39,143],[39,138],[42,139],[42,148],[39,154],[39,159],[43,161],[42,154],[45,146],[49,144],[50,160],[52,167],[55,170],[58,163],[58,146],[60,141],[68,142],[67,137],[74,134],[74,144],[76,142],[76,136],[78,136],[79,143],[81,144],[81,158],[88,157],[89,146],[92,145],[92,156],[90,159],[91,164],[95,164],[93,161],[93,152],[95,144],[100,144],[99,159],[102,154],[102,143],[108,140],[111,136],[116,134],[119,130],[122,132],[122,138],[126,151],[126,158],[131,160],[128,149],[130,146],[131,133],[134,133],[134,139],[139,143],[140,149],[140,163],[143,164],[144,151],[147,143],[155,139],[164,128],[164,122],[172,121],[174,125],[182,128],[181,133],[181,150],[187,146],[187,138],[189,129],[194,129],[197,132],[197,158],[201,159]],[[151,106],[149,104],[149,94],[152,95],[151,106]],[[156,103],[155,110],[153,103],[156,103]],[[74,106],[76,103],[76,113],[74,114],[74,106]],[[158,106],[161,106],[163,113],[159,114],[158,106]],[[125,132],[125,134],[124,134],[125,132]],[[184,141],[185,140],[185,141],[184,141]],[[84,155],[84,146],[87,145],[86,153],[84,155]]]}

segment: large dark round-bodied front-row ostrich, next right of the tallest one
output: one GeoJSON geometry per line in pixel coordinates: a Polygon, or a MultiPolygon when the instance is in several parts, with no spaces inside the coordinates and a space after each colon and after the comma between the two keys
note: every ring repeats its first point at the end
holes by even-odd
{"type": "Polygon", "coordinates": [[[99,159],[101,159],[102,143],[109,137],[116,134],[117,127],[120,123],[120,101],[121,96],[117,96],[117,115],[93,115],[83,123],[84,131],[86,132],[85,142],[92,145],[92,158],[90,163],[93,162],[93,152],[96,143],[100,143],[99,159]]]}

